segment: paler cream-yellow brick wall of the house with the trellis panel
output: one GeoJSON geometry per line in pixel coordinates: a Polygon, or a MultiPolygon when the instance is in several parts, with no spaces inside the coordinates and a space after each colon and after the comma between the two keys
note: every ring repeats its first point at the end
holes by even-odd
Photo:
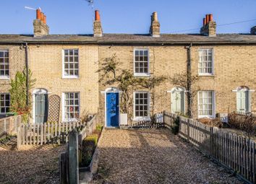
{"type": "Polygon", "coordinates": [[[98,112],[98,46],[30,45],[29,66],[36,79],[33,89],[43,88],[50,93],[49,95],[59,97],[62,92],[80,92],[80,115],[83,112],[98,112]],[[62,78],[64,49],[79,49],[78,79],[62,78]]]}

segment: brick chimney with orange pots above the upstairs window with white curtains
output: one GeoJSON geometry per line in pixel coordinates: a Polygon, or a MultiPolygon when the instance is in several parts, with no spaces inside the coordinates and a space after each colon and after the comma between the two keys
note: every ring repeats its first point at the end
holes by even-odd
{"type": "Polygon", "coordinates": [[[200,33],[205,36],[216,36],[216,22],[213,20],[213,14],[206,14],[203,19],[203,25],[200,33]]]}

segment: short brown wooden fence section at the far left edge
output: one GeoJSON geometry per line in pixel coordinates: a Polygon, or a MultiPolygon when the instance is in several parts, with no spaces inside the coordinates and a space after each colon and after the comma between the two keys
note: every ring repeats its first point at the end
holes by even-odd
{"type": "Polygon", "coordinates": [[[22,123],[22,115],[9,116],[0,119],[0,138],[4,134],[16,134],[17,127],[22,123]]]}

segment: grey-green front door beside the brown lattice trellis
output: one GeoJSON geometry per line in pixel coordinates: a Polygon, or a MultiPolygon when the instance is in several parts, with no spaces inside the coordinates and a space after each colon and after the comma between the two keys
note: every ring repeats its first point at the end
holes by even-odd
{"type": "Polygon", "coordinates": [[[35,94],[35,123],[46,123],[48,110],[48,95],[35,94]]]}

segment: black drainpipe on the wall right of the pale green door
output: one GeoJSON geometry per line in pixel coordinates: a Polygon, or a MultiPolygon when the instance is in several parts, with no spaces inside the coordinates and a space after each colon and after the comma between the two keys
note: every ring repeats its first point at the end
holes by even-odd
{"type": "Polygon", "coordinates": [[[191,92],[191,48],[192,43],[187,49],[187,115],[192,118],[192,92],[191,92]]]}

